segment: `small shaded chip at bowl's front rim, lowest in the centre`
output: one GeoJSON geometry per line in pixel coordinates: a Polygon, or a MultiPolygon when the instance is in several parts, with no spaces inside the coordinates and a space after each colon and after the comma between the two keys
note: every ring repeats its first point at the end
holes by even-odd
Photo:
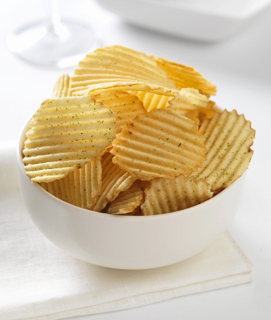
{"type": "Polygon", "coordinates": [[[133,212],[143,200],[143,191],[132,186],[128,190],[121,192],[108,207],[108,213],[125,214],[133,212]]]}

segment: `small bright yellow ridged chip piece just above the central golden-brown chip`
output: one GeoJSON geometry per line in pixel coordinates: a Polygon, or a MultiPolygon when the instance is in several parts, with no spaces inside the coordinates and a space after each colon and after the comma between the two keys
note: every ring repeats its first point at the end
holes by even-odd
{"type": "Polygon", "coordinates": [[[147,112],[153,109],[164,109],[169,106],[169,101],[173,99],[173,97],[145,91],[135,91],[134,94],[142,101],[147,112]]]}

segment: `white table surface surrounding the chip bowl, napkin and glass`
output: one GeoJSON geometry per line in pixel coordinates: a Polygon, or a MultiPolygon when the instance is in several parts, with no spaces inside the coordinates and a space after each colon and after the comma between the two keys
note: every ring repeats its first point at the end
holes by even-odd
{"type": "MultiPolygon", "coordinates": [[[[230,227],[254,266],[254,282],[74,319],[271,319],[271,9],[235,37],[219,44],[202,44],[124,24],[92,1],[60,4],[63,16],[94,23],[104,45],[121,44],[194,66],[217,85],[213,100],[222,108],[244,113],[256,129],[243,205],[230,227]]],[[[0,141],[16,139],[27,117],[51,96],[55,78],[61,72],[72,72],[24,63],[5,46],[11,28],[41,19],[46,12],[46,1],[1,3],[0,141]]]]}

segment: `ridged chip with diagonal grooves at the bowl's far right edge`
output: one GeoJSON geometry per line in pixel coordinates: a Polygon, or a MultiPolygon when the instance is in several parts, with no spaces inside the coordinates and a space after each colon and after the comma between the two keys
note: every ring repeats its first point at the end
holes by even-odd
{"type": "Polygon", "coordinates": [[[208,149],[207,160],[190,176],[203,178],[211,190],[226,188],[248,168],[255,130],[244,115],[238,115],[236,110],[224,110],[211,120],[204,120],[200,132],[208,149]]]}

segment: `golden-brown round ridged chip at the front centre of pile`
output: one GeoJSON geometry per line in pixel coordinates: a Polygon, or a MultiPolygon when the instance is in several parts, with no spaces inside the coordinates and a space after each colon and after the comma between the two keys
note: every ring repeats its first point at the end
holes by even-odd
{"type": "Polygon", "coordinates": [[[195,122],[163,109],[136,116],[112,146],[113,162],[140,180],[197,171],[207,151],[195,122]]]}

